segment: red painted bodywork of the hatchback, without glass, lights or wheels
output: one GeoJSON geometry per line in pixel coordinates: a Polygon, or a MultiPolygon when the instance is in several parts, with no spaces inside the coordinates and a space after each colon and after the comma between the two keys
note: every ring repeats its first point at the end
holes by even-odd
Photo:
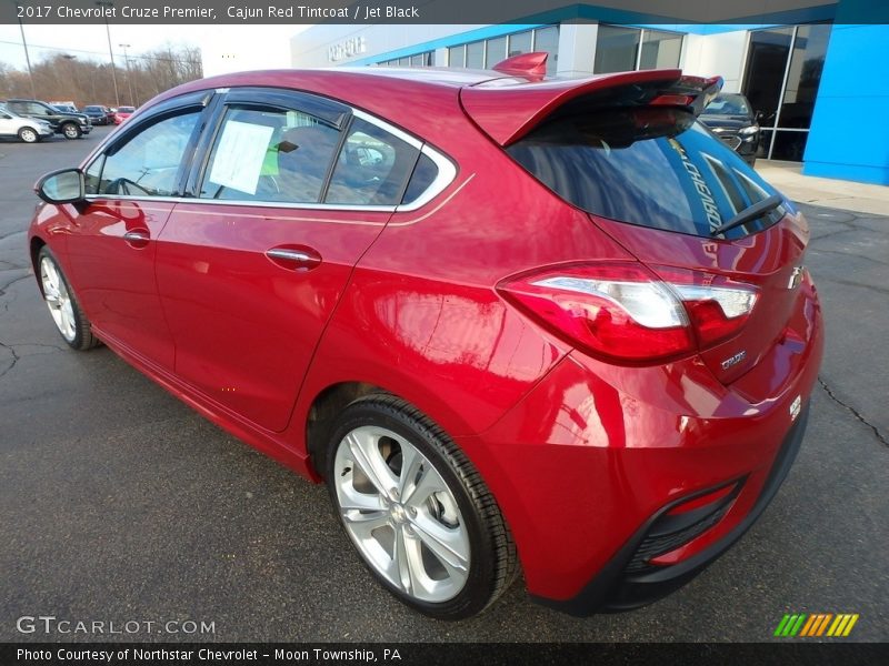
{"type": "Polygon", "coordinates": [[[141,107],[127,128],[192,91],[303,90],[414,134],[447,154],[456,178],[413,211],[188,198],[99,201],[80,213],[46,205],[30,239],[58,255],[111,349],[310,478],[319,480],[307,424],[324,391],[361,382],[416,405],[479,468],[513,533],[529,589],[568,599],[672,501],[745,480],[715,526],[656,564],[687,562],[739,525],[822,354],[810,279],[787,289],[808,240],[801,216],[737,241],[591,218],[498,145],[578,95],[679,75],[499,88],[478,85],[496,72],[448,71],[281,70],[196,81],[141,107]],[[149,242],[128,244],[122,236],[133,230],[149,242]],[[276,248],[320,262],[288,269],[266,254],[276,248]],[[655,271],[746,281],[760,300],[748,325],[715,349],[625,366],[585,355],[497,291],[543,266],[637,260],[655,271]],[[747,359],[723,371],[721,361],[738,349],[747,359]]]}

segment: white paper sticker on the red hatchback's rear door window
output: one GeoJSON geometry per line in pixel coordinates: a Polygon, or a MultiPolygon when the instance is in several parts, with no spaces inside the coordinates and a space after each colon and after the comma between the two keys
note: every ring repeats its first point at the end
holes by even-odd
{"type": "Polygon", "coordinates": [[[272,132],[266,125],[228,121],[216,149],[210,181],[256,194],[272,132]]]}

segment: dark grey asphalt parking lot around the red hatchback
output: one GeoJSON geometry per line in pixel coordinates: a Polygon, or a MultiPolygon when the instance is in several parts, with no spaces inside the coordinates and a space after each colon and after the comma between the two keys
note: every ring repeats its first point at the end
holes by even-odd
{"type": "Polygon", "coordinates": [[[860,614],[850,639],[889,640],[889,218],[802,206],[827,322],[821,385],[787,482],[727,555],[631,613],[569,617],[517,584],[446,624],[371,579],[322,486],[109,350],[67,349],[27,256],[31,185],[107,131],[0,141],[0,640],[101,638],[17,630],[53,615],[214,626],[107,636],[128,640],[757,642],[785,613],[825,612],[860,614]]]}

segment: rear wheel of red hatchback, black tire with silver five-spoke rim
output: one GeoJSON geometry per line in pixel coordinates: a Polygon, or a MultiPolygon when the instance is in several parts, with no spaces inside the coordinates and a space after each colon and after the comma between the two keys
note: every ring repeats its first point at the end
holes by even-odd
{"type": "Polygon", "coordinates": [[[515,581],[516,547],[478,471],[404,401],[373,394],[346,407],[332,427],[326,475],[361,561],[411,608],[438,619],[471,617],[515,581]]]}

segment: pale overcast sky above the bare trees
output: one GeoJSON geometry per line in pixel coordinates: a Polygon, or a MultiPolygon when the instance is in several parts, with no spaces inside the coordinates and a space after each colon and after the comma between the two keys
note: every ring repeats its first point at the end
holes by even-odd
{"type": "MultiPolygon", "coordinates": [[[[170,42],[172,44],[210,46],[222,50],[226,43],[253,40],[258,50],[263,42],[287,43],[289,38],[308,26],[111,26],[111,48],[114,62],[123,67],[123,49],[130,57],[139,56],[170,42]],[[120,59],[118,60],[118,54],[120,59]]],[[[103,23],[97,26],[24,26],[24,39],[31,62],[52,53],[67,53],[78,58],[108,62],[108,38],[103,23]]],[[[24,49],[19,26],[0,24],[0,62],[24,69],[24,49]]]]}

